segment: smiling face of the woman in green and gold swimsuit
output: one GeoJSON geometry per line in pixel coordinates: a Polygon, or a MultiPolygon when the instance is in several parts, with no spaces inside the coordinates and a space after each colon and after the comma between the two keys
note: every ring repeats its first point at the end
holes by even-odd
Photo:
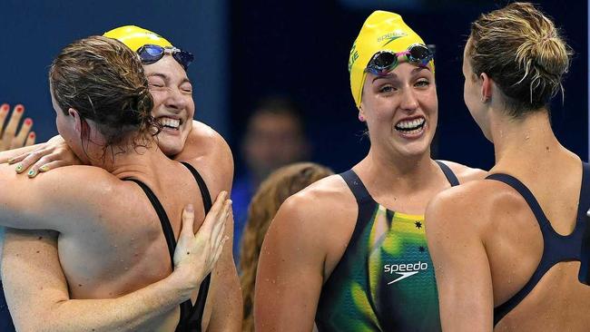
{"type": "Polygon", "coordinates": [[[429,67],[399,63],[384,75],[367,73],[360,108],[372,147],[399,157],[429,154],[438,121],[437,88],[429,67]]]}

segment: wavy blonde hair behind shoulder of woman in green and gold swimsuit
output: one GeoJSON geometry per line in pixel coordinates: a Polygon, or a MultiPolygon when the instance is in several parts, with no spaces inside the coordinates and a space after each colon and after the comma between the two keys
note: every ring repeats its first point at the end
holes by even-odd
{"type": "Polygon", "coordinates": [[[241,239],[241,292],[244,298],[242,331],[254,331],[254,282],[262,240],[280,204],[311,183],[334,172],[312,162],[298,162],[270,173],[251,200],[241,239]]]}

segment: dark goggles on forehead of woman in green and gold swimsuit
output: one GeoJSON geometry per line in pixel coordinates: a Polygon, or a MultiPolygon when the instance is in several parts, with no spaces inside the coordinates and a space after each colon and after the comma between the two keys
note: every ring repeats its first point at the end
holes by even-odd
{"type": "Polygon", "coordinates": [[[411,44],[404,52],[379,51],[370,59],[365,73],[375,75],[388,73],[398,65],[399,56],[405,56],[410,64],[424,67],[432,60],[434,53],[425,44],[411,44]]]}

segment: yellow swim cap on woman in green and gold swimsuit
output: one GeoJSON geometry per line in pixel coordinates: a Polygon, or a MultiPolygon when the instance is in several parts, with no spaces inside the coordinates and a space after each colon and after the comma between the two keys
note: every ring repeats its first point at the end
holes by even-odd
{"type": "MultiPolygon", "coordinates": [[[[360,28],[349,56],[350,91],[357,108],[360,107],[365,68],[379,51],[403,52],[412,44],[424,44],[422,38],[395,13],[375,11],[360,28]]],[[[434,61],[430,67],[434,72],[434,61]]]]}

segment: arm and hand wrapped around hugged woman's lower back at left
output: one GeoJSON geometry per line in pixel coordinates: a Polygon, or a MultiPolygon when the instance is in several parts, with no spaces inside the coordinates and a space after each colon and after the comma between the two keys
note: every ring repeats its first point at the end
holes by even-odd
{"type": "Polygon", "coordinates": [[[182,213],[182,231],[167,278],[108,299],[70,299],[57,255],[57,233],[8,229],[3,283],[15,327],[25,331],[113,331],[148,328],[198,289],[221,255],[230,202],[216,200],[197,234],[192,208],[182,213]]]}

